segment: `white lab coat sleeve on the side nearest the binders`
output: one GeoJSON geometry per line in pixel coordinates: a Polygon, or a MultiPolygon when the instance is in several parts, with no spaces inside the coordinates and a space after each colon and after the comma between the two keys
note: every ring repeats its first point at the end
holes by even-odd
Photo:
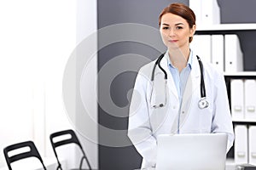
{"type": "Polygon", "coordinates": [[[224,76],[218,73],[214,78],[215,94],[214,94],[214,115],[212,118],[212,133],[227,133],[228,144],[227,152],[230,150],[234,142],[234,131],[232,125],[232,118],[230,114],[230,105],[227,95],[227,89],[224,81],[224,76]]]}

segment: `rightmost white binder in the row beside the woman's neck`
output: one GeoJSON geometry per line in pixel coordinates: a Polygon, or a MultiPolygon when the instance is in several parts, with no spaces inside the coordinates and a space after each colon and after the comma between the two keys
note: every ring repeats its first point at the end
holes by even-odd
{"type": "Polygon", "coordinates": [[[224,35],[224,47],[225,71],[243,71],[243,54],[237,35],[224,35]]]}

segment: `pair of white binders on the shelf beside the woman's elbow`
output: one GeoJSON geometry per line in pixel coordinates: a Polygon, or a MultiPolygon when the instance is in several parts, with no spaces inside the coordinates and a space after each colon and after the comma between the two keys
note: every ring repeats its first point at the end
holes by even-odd
{"type": "Polygon", "coordinates": [[[256,80],[231,79],[230,103],[234,121],[256,122],[256,80]]]}

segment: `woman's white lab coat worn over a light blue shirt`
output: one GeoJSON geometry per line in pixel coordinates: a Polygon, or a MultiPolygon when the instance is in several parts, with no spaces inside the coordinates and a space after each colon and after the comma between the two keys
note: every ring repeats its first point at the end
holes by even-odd
{"type": "Polygon", "coordinates": [[[151,93],[153,83],[150,78],[155,62],[153,61],[144,65],[138,72],[131,98],[128,136],[143,156],[143,168],[155,166],[157,136],[163,133],[177,133],[178,128],[179,133],[227,133],[227,151],[230,150],[234,141],[223,74],[201,59],[209,106],[206,109],[200,109],[198,101],[201,99],[201,71],[194,55],[192,69],[183,94],[183,102],[180,105],[177,88],[167,66],[167,57],[166,53],[160,62],[168,77],[166,91],[163,85],[164,74],[157,66],[154,74],[154,87],[162,88],[151,93]],[[167,94],[166,106],[155,109],[150,105],[151,94],[153,103],[157,103],[157,99],[165,99],[162,97],[163,93],[167,94]]]}

